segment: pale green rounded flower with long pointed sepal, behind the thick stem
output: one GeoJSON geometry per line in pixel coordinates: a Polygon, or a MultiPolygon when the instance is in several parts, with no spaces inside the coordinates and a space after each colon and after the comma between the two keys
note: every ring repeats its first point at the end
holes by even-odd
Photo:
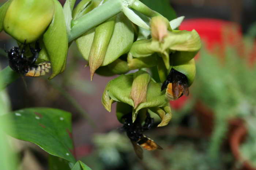
{"type": "MultiPolygon", "coordinates": [[[[79,3],[80,9],[78,7],[74,9],[74,18],[98,6],[94,1],[89,5],[86,3],[87,1],[82,2],[81,5],[79,3]]],[[[127,17],[123,13],[119,13],[111,20],[111,22],[106,21],[76,39],[83,58],[89,61],[91,78],[100,66],[107,66],[121,55],[126,54],[133,43],[132,24],[127,17]]],[[[108,68],[104,68],[104,70],[106,69],[108,68]]]]}

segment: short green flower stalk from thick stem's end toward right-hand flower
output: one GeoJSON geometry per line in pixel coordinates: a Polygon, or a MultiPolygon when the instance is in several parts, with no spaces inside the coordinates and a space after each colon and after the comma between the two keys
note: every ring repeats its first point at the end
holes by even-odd
{"type": "Polygon", "coordinates": [[[130,6],[131,8],[135,9],[136,11],[143,13],[147,17],[154,17],[154,16],[162,16],[160,13],[150,9],[147,7],[147,5],[143,4],[139,0],[135,0],[134,3],[130,6]]]}

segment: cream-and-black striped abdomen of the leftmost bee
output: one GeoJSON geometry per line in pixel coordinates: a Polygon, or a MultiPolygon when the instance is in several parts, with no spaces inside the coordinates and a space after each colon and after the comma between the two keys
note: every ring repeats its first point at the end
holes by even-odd
{"type": "Polygon", "coordinates": [[[30,77],[43,76],[49,72],[50,68],[51,68],[50,63],[46,63],[46,62],[39,63],[37,67],[29,68],[29,71],[25,74],[25,76],[30,76],[30,77]]]}

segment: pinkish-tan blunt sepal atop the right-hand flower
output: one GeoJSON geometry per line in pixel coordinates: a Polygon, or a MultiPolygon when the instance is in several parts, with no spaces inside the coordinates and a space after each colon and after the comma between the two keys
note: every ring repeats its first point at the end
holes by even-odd
{"type": "Polygon", "coordinates": [[[169,21],[163,16],[155,16],[150,21],[151,35],[153,40],[159,42],[163,41],[163,38],[168,35],[168,30],[172,31],[169,21]]]}

